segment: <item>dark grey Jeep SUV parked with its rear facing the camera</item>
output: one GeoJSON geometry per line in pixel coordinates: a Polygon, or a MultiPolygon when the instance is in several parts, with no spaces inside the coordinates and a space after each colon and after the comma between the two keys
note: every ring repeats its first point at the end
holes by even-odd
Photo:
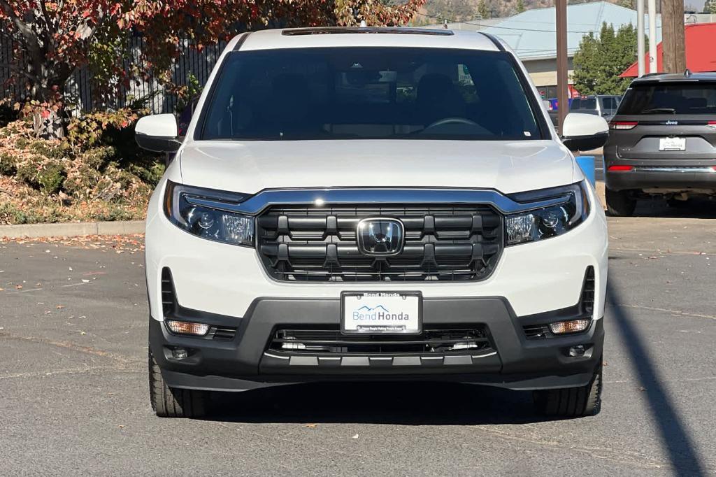
{"type": "Polygon", "coordinates": [[[637,199],[716,196],[716,73],[634,80],[604,145],[606,205],[630,216],[637,199]]]}

